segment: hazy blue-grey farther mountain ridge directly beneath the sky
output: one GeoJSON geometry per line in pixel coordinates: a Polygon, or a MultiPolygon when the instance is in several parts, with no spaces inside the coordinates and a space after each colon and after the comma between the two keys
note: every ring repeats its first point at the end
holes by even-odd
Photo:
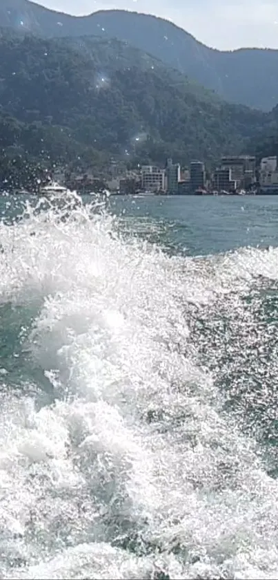
{"type": "Polygon", "coordinates": [[[29,0],[1,0],[0,23],[44,37],[117,38],[176,68],[229,102],[263,111],[278,102],[278,50],[242,48],[221,52],[154,16],[105,10],[73,17],[29,0]]]}

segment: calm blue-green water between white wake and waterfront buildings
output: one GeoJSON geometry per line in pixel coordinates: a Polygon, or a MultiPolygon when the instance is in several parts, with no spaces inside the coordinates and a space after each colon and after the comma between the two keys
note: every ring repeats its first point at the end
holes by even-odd
{"type": "Polygon", "coordinates": [[[278,245],[278,196],[110,198],[112,212],[134,220],[156,243],[189,256],[278,245]]]}

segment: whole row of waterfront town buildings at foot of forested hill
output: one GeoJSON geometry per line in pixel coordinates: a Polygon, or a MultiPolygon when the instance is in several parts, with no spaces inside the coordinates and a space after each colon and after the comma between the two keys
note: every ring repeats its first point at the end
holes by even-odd
{"type": "Polygon", "coordinates": [[[278,194],[278,162],[275,156],[261,159],[259,167],[255,156],[223,156],[219,167],[211,173],[199,160],[193,160],[187,169],[181,169],[179,163],[167,159],[164,167],[142,165],[130,171],[112,160],[108,169],[99,177],[93,176],[90,171],[72,176],[68,178],[67,186],[82,191],[107,188],[115,194],[278,194]]]}

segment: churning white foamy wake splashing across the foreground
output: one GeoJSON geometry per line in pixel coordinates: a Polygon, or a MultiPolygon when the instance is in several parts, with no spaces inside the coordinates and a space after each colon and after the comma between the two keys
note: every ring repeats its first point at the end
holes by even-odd
{"type": "Polygon", "coordinates": [[[0,243],[1,578],[276,578],[273,384],[259,424],[239,377],[278,251],[170,257],[73,194],[0,243]]]}

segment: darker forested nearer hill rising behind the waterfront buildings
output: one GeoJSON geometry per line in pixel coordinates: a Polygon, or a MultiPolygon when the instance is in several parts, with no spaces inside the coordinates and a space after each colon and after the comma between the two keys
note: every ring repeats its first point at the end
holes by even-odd
{"type": "Polygon", "coordinates": [[[42,39],[2,28],[0,54],[0,111],[12,118],[0,143],[12,127],[3,147],[34,156],[213,164],[244,149],[268,119],[115,39],[42,39]]]}

